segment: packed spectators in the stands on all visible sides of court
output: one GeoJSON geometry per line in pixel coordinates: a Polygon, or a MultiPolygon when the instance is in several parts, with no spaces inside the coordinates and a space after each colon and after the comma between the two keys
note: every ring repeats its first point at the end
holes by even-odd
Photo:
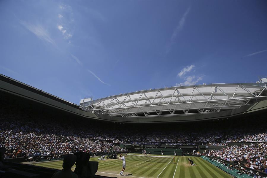
{"type": "MultiPolygon", "coordinates": [[[[117,143],[147,145],[228,145],[234,142],[253,142],[251,145],[227,146],[220,150],[205,150],[196,153],[218,157],[228,161],[247,160],[246,166],[258,170],[266,169],[267,127],[265,116],[255,122],[234,123],[234,127],[214,125],[213,128],[188,125],[171,127],[170,125],[153,125],[153,128],[132,127],[132,125],[115,124],[112,127],[100,125],[91,127],[73,125],[71,120],[46,119],[43,116],[29,118],[26,114],[4,114],[1,112],[0,138],[6,147],[5,159],[33,157],[44,155],[71,154],[74,152],[108,152],[110,145],[116,152],[127,151],[117,143]],[[62,122],[63,121],[63,122],[62,122]],[[261,127],[259,124],[261,123],[261,127]],[[236,125],[235,125],[236,124],[236,125]],[[79,126],[79,127],[78,127],[79,126]],[[185,127],[184,127],[185,126],[185,127]],[[126,132],[119,131],[123,127],[126,132]],[[252,159],[253,158],[253,159],[252,159]],[[258,159],[256,159],[258,158],[258,159]]],[[[249,120],[249,119],[247,119],[249,120]]],[[[247,121],[246,120],[246,121],[247,121]]],[[[206,123],[209,124],[209,123],[206,123]]]]}

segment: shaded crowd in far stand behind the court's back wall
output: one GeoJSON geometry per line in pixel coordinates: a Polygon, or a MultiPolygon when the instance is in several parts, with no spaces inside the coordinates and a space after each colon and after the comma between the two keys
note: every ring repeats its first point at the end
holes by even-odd
{"type": "MultiPolygon", "coordinates": [[[[240,129],[241,130],[241,129],[240,129]]],[[[238,130],[237,130],[238,131],[238,130]]],[[[129,131],[130,132],[130,131],[129,131]]],[[[249,132],[246,134],[221,131],[209,131],[209,133],[203,131],[192,131],[188,134],[185,131],[161,131],[153,132],[147,131],[147,133],[127,133],[124,134],[124,138],[118,137],[110,138],[115,140],[114,143],[131,143],[131,144],[169,144],[169,145],[228,145],[229,142],[266,142],[267,133],[266,130],[258,130],[258,132],[249,132]],[[228,140],[229,138],[229,140],[228,140]],[[234,138],[234,139],[233,139],[234,138]]],[[[120,134],[117,134],[120,135],[120,134]]]]}

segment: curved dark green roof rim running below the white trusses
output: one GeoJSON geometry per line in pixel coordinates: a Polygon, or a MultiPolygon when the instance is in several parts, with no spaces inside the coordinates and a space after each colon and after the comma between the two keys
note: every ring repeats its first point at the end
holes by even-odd
{"type": "Polygon", "coordinates": [[[117,122],[117,123],[170,123],[170,122],[194,122],[194,121],[204,121],[204,120],[214,120],[221,118],[230,118],[233,116],[243,115],[246,113],[255,113],[255,112],[266,112],[267,111],[267,100],[260,101],[255,103],[254,105],[247,105],[242,108],[237,108],[228,111],[222,112],[214,112],[209,114],[201,114],[201,113],[188,113],[183,116],[174,116],[170,117],[168,115],[161,115],[160,117],[113,117],[109,115],[98,115],[91,112],[86,112],[80,109],[78,106],[71,104],[70,102],[66,102],[64,100],[58,99],[58,97],[54,97],[53,95],[49,95],[45,92],[40,92],[40,90],[36,90],[34,87],[30,87],[29,85],[23,84],[22,82],[17,82],[16,80],[12,80],[9,77],[4,75],[0,75],[0,91],[3,93],[9,93],[15,97],[25,98],[27,100],[32,100],[45,106],[54,107],[56,109],[63,110],[67,113],[72,113],[77,116],[81,116],[86,119],[94,119],[94,120],[103,120],[109,122],[117,122]]]}

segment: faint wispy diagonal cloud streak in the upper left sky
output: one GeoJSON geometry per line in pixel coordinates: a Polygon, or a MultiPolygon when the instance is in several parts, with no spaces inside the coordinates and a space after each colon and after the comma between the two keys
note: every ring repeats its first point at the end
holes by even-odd
{"type": "Polygon", "coordinates": [[[49,33],[41,26],[41,25],[36,25],[36,24],[31,24],[31,23],[26,23],[22,20],[20,20],[20,23],[27,28],[29,31],[34,33],[39,39],[52,43],[55,45],[55,42],[53,39],[49,36],[49,33]]]}

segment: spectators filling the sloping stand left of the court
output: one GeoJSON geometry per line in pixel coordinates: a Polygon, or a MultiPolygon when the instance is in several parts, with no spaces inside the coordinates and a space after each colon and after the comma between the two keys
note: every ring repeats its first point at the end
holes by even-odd
{"type": "MultiPolygon", "coordinates": [[[[113,145],[95,139],[91,132],[80,128],[36,122],[27,122],[24,118],[11,120],[10,117],[1,117],[0,142],[4,143],[7,150],[5,159],[73,152],[108,152],[113,145]]],[[[113,145],[113,148],[115,151],[126,151],[117,145],[113,145]]]]}

